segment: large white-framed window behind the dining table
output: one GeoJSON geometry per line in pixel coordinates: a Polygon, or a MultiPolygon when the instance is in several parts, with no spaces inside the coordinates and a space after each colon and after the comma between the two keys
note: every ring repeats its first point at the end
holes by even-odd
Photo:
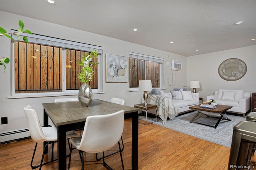
{"type": "MultiPolygon", "coordinates": [[[[96,45],[72,42],[40,35],[26,36],[29,43],[14,38],[14,69],[12,73],[12,93],[65,93],[78,90],[82,85],[77,74],[77,64],[86,52],[96,49],[98,62],[101,61],[103,48],[96,45]]],[[[93,92],[101,91],[102,77],[100,64],[94,66],[94,76],[88,84],[93,92]]]]}

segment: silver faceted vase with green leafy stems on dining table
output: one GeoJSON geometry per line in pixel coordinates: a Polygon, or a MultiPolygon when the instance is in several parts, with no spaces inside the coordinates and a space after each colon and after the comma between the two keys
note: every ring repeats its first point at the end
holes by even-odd
{"type": "Polygon", "coordinates": [[[88,106],[92,102],[92,89],[87,83],[92,80],[93,66],[98,66],[98,62],[94,62],[94,58],[98,57],[98,52],[93,50],[91,53],[86,52],[82,56],[81,61],[78,61],[78,65],[82,66],[78,78],[83,83],[80,86],[78,92],[78,99],[82,106],[88,106]]]}

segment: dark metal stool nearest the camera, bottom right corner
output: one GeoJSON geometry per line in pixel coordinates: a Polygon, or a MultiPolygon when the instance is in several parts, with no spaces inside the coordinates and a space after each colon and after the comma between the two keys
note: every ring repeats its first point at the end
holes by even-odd
{"type": "Polygon", "coordinates": [[[251,142],[256,142],[256,123],[241,121],[233,127],[228,170],[244,169],[251,142]]]}

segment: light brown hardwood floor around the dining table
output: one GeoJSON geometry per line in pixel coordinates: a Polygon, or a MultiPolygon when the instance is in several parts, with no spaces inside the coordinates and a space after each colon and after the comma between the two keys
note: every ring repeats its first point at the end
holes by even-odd
{"type": "MultiPolygon", "coordinates": [[[[131,169],[131,119],[124,121],[124,168],[131,169]]],[[[35,142],[31,139],[3,144],[0,146],[1,170],[29,170],[35,142]]],[[[54,153],[56,155],[56,144],[54,153]]],[[[116,147],[117,149],[117,147],[116,147]]],[[[230,148],[214,144],[168,128],[139,123],[139,161],[140,170],[226,170],[228,169],[230,148]]],[[[42,144],[38,146],[35,163],[40,162],[42,144]]],[[[45,160],[50,159],[45,156],[45,160]]],[[[105,170],[102,161],[96,162],[95,154],[85,153],[85,169],[105,170]]],[[[67,158],[68,162],[68,158],[67,158]]],[[[122,169],[120,154],[106,158],[113,169],[122,169]]],[[[39,168],[38,168],[39,169],[39,168]]],[[[56,170],[57,161],[44,165],[42,170],[56,170]]],[[[80,170],[81,162],[77,150],[72,152],[71,170],[80,170]]]]}

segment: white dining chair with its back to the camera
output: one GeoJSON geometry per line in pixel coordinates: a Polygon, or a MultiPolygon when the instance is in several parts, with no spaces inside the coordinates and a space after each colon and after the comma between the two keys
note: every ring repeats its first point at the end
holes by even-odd
{"type": "Polygon", "coordinates": [[[84,132],[82,136],[70,139],[70,157],[68,161],[68,169],[72,155],[72,146],[78,149],[82,170],[84,169],[84,154],[83,152],[98,153],[103,152],[103,165],[108,168],[104,160],[104,151],[112,148],[116,143],[119,146],[122,168],[124,170],[124,162],[120,147],[120,138],[124,129],[124,110],[111,113],[108,115],[94,115],[86,118],[84,132]]]}

